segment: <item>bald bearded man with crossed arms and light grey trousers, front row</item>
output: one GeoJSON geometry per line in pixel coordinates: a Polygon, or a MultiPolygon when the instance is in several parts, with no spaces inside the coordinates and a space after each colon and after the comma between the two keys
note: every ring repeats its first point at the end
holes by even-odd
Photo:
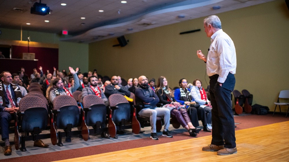
{"type": "Polygon", "coordinates": [[[142,105],[142,109],[139,111],[140,116],[146,116],[150,118],[150,125],[152,127],[150,138],[158,140],[156,121],[157,116],[164,116],[164,130],[162,136],[173,137],[168,130],[170,126],[170,110],[167,108],[156,107],[156,104],[160,101],[155,92],[150,88],[147,83],[147,77],[139,77],[139,86],[135,89],[135,102],[138,105],[142,105]]]}

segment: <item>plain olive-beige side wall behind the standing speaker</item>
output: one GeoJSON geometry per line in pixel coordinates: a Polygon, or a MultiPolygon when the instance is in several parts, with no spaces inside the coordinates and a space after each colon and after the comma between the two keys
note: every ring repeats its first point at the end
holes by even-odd
{"type": "MultiPolygon", "coordinates": [[[[289,89],[289,11],[285,2],[277,0],[217,15],[236,46],[235,89],[249,90],[254,95],[253,104],[274,110],[279,91],[289,89]]],[[[91,43],[88,69],[96,68],[99,74],[121,75],[125,79],[165,76],[172,88],[183,77],[191,83],[201,79],[206,87],[206,64],[196,56],[198,49],[206,53],[210,46],[203,19],[125,35],[129,39],[125,47],[112,47],[118,44],[116,38],[91,43]],[[194,29],[201,31],[179,34],[194,29]]]]}

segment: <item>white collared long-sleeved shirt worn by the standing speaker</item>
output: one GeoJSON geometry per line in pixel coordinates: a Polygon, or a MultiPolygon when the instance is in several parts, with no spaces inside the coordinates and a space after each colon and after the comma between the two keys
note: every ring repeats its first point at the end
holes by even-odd
{"type": "Polygon", "coordinates": [[[207,74],[219,74],[218,82],[224,83],[228,74],[236,74],[237,59],[234,42],[222,29],[211,36],[207,56],[207,74]]]}

